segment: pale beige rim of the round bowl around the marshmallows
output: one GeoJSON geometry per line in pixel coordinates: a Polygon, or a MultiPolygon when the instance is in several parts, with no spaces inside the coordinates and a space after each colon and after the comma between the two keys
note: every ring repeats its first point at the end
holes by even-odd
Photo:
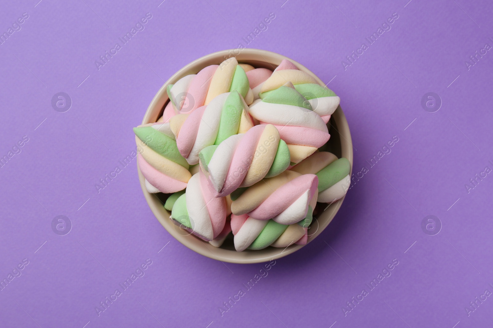
{"type": "MultiPolygon", "coordinates": [[[[166,81],[166,83],[157,91],[156,95],[153,97],[142,119],[142,124],[155,122],[158,119],[158,116],[161,114],[164,105],[169,99],[166,91],[168,85],[176,83],[176,81],[178,81],[180,78],[182,78],[185,75],[196,74],[200,69],[208,65],[219,64],[220,62],[222,62],[223,60],[229,57],[236,57],[236,59],[239,62],[261,61],[272,66],[272,69],[277,67],[282,60],[286,59],[291,61],[294,65],[296,65],[298,69],[305,71],[306,73],[314,77],[317,80],[318,84],[320,84],[321,86],[325,86],[325,84],[308,68],[298,63],[297,61],[282,56],[280,54],[270,52],[267,50],[251,49],[251,48],[222,50],[203,56],[197,60],[194,60],[189,64],[183,66],[175,74],[173,74],[173,76],[171,76],[166,81]],[[237,52],[238,54],[236,54],[237,52]],[[261,59],[259,59],[260,57],[261,59]]],[[[332,118],[334,119],[336,126],[338,128],[338,130],[336,130],[337,133],[339,134],[340,137],[342,137],[340,138],[341,156],[346,157],[351,164],[351,171],[349,174],[351,177],[352,161],[353,161],[352,138],[351,138],[351,132],[349,129],[348,121],[346,119],[346,116],[344,115],[344,112],[341,109],[341,106],[339,106],[336,109],[336,111],[332,114],[332,118]]],[[[178,240],[180,243],[190,248],[191,250],[201,255],[204,255],[206,257],[209,257],[211,259],[218,260],[221,262],[228,262],[228,263],[238,263],[238,264],[262,263],[262,262],[279,259],[288,254],[294,253],[295,251],[299,250],[303,246],[310,243],[328,226],[328,224],[332,221],[334,216],[341,208],[341,205],[344,202],[344,199],[346,198],[345,195],[343,198],[327,206],[326,209],[328,209],[329,207],[332,209],[331,211],[329,211],[330,213],[328,213],[325,209],[317,217],[314,217],[315,221],[317,222],[317,231],[309,235],[307,243],[305,245],[292,244],[284,249],[267,247],[262,250],[255,250],[255,251],[246,250],[243,252],[237,252],[234,250],[214,247],[209,242],[198,239],[194,236],[189,236],[190,235],[189,232],[176,226],[176,224],[174,224],[169,219],[170,212],[164,209],[161,200],[158,199],[155,194],[151,194],[146,190],[144,184],[144,177],[141,173],[138,164],[137,164],[137,171],[139,174],[139,180],[141,182],[142,192],[144,194],[147,205],[153,212],[154,216],[156,216],[159,223],[161,223],[161,225],[176,240],[178,240]],[[321,221],[321,224],[319,221],[321,221]]],[[[312,225],[313,223],[314,222],[312,222],[312,225]]],[[[312,227],[312,225],[310,227],[312,227]]]]}

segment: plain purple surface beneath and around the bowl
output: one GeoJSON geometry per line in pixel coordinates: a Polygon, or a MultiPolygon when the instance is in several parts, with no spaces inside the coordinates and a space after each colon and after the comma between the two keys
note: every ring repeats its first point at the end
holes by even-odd
{"type": "Polygon", "coordinates": [[[493,45],[490,1],[36,2],[0,10],[2,33],[29,14],[0,45],[0,156],[29,138],[0,168],[0,278],[29,261],[2,286],[0,327],[491,323],[493,178],[475,175],[493,169],[493,54],[465,63],[493,45]],[[98,70],[99,56],[146,13],[145,29],[98,70]],[[248,47],[330,81],[351,127],[353,173],[368,172],[316,240],[247,290],[262,265],[223,264],[173,239],[145,203],[135,160],[99,193],[95,184],[135,148],[131,128],[164,81],[201,56],[246,46],[243,37],[270,13],[276,18],[248,47]],[[369,45],[365,37],[393,13],[391,29],[369,45]],[[345,70],[342,60],[363,42],[368,49],[345,70]],[[69,111],[52,108],[57,92],[70,95],[69,111]],[[441,97],[435,113],[422,108],[427,92],[441,97]],[[371,167],[367,160],[394,136],[371,167]],[[58,215],[70,218],[65,236],[52,230],[58,215]],[[435,236],[422,229],[427,215],[442,223],[435,236]],[[145,275],[123,291],[119,284],[147,259],[145,275]],[[366,284],[394,259],[370,291],[366,284]],[[116,289],[122,295],[98,316],[116,289]],[[240,289],[245,295],[221,316],[240,289]],[[368,295],[349,307],[363,289],[368,295]]]}

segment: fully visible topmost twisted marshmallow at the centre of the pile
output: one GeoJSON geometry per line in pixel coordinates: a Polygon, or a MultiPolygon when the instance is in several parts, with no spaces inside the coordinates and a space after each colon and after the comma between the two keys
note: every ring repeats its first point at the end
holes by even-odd
{"type": "Polygon", "coordinates": [[[289,149],[272,124],[256,125],[200,152],[200,167],[216,196],[274,177],[289,166],[289,149]]]}

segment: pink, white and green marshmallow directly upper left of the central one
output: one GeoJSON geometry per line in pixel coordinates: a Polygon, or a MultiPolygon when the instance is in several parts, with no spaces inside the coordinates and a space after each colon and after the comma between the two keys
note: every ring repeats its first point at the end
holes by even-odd
{"type": "Polygon", "coordinates": [[[170,119],[176,146],[190,165],[199,162],[202,149],[219,145],[234,134],[245,133],[252,126],[248,106],[237,91],[222,93],[209,105],[170,119]]]}

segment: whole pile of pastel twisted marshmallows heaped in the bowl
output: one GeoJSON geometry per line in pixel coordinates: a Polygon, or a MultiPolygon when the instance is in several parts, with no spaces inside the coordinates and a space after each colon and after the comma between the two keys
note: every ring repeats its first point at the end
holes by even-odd
{"type": "Polygon", "coordinates": [[[350,163],[326,151],[340,98],[292,62],[273,71],[229,58],[167,87],[156,123],[134,128],[150,193],[170,219],[237,251],[306,244],[317,202],[342,198],[350,163]]]}

